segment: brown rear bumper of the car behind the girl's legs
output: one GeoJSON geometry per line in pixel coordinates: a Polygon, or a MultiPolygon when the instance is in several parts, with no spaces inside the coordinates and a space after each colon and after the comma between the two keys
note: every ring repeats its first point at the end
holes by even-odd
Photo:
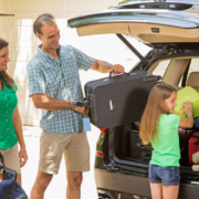
{"type": "MultiPolygon", "coordinates": [[[[95,169],[94,172],[97,189],[151,197],[148,178],[100,169],[95,169]]],[[[199,186],[191,184],[180,185],[179,199],[198,199],[198,197],[199,186]]]]}

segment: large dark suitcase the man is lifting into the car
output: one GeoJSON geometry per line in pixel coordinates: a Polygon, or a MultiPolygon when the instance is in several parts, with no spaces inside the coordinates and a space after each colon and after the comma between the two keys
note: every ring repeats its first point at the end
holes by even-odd
{"type": "Polygon", "coordinates": [[[139,121],[148,94],[160,80],[145,71],[125,73],[85,84],[88,116],[98,128],[108,128],[139,121]]]}

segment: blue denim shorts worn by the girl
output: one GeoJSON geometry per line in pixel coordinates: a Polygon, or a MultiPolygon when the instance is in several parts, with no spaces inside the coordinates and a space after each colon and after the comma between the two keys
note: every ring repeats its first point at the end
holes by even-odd
{"type": "Polygon", "coordinates": [[[178,186],[180,181],[179,167],[159,167],[156,165],[149,165],[148,174],[150,184],[178,186]]]}

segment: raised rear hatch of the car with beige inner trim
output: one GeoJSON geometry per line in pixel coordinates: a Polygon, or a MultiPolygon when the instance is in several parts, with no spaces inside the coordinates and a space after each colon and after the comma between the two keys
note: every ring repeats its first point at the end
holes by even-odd
{"type": "Polygon", "coordinates": [[[69,20],[80,36],[116,33],[132,35],[153,48],[199,45],[199,14],[158,9],[116,9],[69,20]]]}

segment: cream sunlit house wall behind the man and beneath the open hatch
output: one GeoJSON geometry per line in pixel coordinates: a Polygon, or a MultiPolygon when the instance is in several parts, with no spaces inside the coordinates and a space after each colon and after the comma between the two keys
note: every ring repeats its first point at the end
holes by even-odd
{"type": "MultiPolygon", "coordinates": [[[[0,0],[0,13],[13,13],[14,17],[0,17],[0,36],[9,41],[10,63],[9,74],[18,85],[19,112],[23,125],[39,126],[41,111],[33,107],[29,97],[25,67],[27,63],[35,54],[40,44],[32,31],[35,18],[44,12],[50,12],[56,18],[61,30],[61,44],[72,44],[85,53],[106,60],[111,63],[121,63],[116,59],[121,56],[121,41],[116,36],[84,36],[78,38],[75,29],[67,28],[67,19],[83,13],[103,11],[109,6],[117,3],[118,0],[0,0]],[[114,38],[114,39],[113,39],[114,38]],[[108,48],[106,46],[108,45],[108,48]],[[118,49],[117,49],[117,48],[118,49]]],[[[129,51],[126,51],[128,56],[129,51]]],[[[123,52],[124,52],[123,51],[123,52]]],[[[125,63],[132,62],[132,57],[125,57],[125,63]]],[[[135,59],[136,60],[136,59],[135,59]]],[[[134,61],[135,61],[134,60],[134,61]]],[[[126,63],[126,64],[128,64],[126,63]]],[[[95,73],[81,73],[83,84],[97,76],[95,73]],[[87,75],[87,76],[86,76],[87,75]]]]}

